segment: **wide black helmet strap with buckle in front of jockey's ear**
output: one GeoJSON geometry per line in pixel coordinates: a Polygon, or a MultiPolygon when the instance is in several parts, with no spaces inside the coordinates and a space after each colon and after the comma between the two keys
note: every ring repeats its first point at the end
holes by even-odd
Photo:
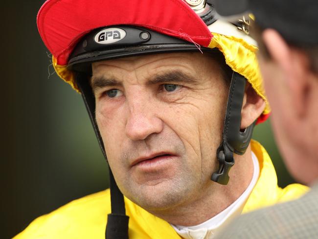
{"type": "Polygon", "coordinates": [[[234,165],[234,153],[242,155],[249,146],[256,120],[241,131],[241,111],[245,92],[246,78],[233,71],[228,92],[227,111],[223,126],[222,143],[217,149],[216,156],[219,169],[211,176],[211,180],[227,185],[229,170],[234,165]]]}

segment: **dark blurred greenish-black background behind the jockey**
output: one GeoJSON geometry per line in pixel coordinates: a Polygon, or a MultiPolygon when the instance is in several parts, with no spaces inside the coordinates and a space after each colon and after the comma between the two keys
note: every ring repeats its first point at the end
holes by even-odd
{"type": "MultiPolygon", "coordinates": [[[[1,239],[12,238],[39,215],[104,190],[109,183],[81,96],[49,66],[36,26],[43,3],[1,0],[1,239]]],[[[293,182],[270,123],[258,125],[253,138],[269,151],[279,185],[293,182]]]]}

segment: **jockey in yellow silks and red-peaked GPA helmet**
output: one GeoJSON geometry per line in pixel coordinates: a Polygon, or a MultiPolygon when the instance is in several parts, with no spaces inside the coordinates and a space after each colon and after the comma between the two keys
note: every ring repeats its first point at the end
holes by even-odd
{"type": "Polygon", "coordinates": [[[212,238],[235,215],[306,191],[278,188],[250,143],[270,112],[256,48],[248,25],[216,21],[210,1],[48,0],[38,28],[83,95],[111,190],[17,238],[104,238],[105,227],[107,238],[212,238]]]}

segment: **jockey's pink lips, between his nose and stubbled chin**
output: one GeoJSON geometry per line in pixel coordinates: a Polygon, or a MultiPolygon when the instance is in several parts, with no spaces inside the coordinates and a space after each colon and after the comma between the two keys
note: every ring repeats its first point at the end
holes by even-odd
{"type": "Polygon", "coordinates": [[[146,170],[146,171],[159,170],[160,168],[167,167],[176,158],[177,158],[176,155],[159,156],[153,159],[147,159],[147,160],[141,161],[137,163],[136,165],[134,165],[133,167],[137,167],[138,169],[146,170]]]}

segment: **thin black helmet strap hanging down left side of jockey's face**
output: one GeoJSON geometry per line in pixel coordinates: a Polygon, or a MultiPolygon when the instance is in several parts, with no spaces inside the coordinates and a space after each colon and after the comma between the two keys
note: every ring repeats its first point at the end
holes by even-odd
{"type": "MultiPolygon", "coordinates": [[[[104,143],[95,120],[95,97],[91,90],[89,76],[86,73],[77,73],[76,83],[82,93],[82,97],[89,113],[99,146],[102,149],[103,155],[107,161],[104,143]]],[[[107,239],[128,239],[129,216],[126,215],[124,196],[118,189],[111,168],[109,168],[109,173],[112,213],[109,214],[107,218],[105,237],[107,239]]]]}

